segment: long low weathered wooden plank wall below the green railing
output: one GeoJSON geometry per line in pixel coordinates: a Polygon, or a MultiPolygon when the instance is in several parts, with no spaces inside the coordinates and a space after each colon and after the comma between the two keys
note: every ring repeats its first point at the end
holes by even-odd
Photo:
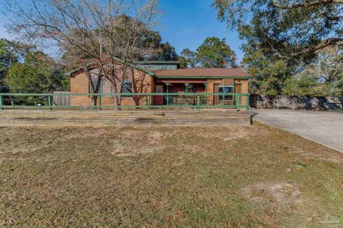
{"type": "Polygon", "coordinates": [[[250,125],[236,110],[2,110],[0,126],[250,125]]]}

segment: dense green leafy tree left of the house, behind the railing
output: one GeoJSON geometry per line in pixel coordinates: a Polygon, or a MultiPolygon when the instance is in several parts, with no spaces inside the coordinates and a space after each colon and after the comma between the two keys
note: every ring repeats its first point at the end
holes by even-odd
{"type": "Polygon", "coordinates": [[[12,93],[51,93],[64,90],[66,80],[49,56],[36,51],[26,53],[24,63],[14,63],[4,83],[12,93]]]}

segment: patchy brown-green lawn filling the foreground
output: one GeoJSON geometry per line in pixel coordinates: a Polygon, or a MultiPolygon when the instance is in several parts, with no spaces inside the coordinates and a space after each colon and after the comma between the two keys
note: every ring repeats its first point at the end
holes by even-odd
{"type": "Polygon", "coordinates": [[[259,123],[0,128],[0,145],[1,227],[342,225],[343,155],[259,123]]]}

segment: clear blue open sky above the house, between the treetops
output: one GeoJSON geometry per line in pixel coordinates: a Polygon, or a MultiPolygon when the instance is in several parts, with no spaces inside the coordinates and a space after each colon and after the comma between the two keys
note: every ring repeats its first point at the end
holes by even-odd
{"type": "MultiPolygon", "coordinates": [[[[159,31],[163,41],[169,41],[180,53],[184,48],[193,51],[202,44],[205,38],[217,36],[226,38],[229,46],[237,53],[239,61],[243,53],[239,47],[236,31],[229,31],[226,24],[217,20],[217,12],[212,8],[213,0],[159,0],[160,9],[164,12],[159,31]]],[[[6,18],[0,15],[0,36],[11,38],[4,28],[6,18]]]]}

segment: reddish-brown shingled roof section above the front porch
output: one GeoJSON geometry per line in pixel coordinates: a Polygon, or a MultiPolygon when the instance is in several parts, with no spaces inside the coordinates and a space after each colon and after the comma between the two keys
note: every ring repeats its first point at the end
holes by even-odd
{"type": "Polygon", "coordinates": [[[184,68],[152,70],[156,78],[252,78],[240,68],[184,68]]]}

